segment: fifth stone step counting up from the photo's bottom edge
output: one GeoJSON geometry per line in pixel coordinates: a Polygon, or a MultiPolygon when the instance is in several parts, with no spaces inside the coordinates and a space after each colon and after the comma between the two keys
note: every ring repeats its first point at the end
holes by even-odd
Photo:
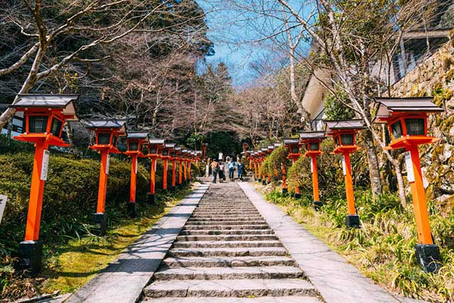
{"type": "Polygon", "coordinates": [[[240,257],[240,256],[283,256],[287,250],[282,247],[250,247],[250,248],[172,248],[169,257],[240,257]]]}

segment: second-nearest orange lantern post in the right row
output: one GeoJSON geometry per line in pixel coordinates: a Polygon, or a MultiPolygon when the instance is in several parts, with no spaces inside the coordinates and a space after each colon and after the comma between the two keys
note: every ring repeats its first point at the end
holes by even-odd
{"type": "Polygon", "coordinates": [[[355,196],[353,194],[352,167],[350,164],[350,153],[355,153],[361,148],[356,145],[356,133],[360,131],[362,120],[332,120],[323,121],[326,126],[326,135],[334,138],[336,148],[333,154],[342,154],[343,175],[345,178],[345,192],[347,195],[347,211],[345,225],[349,227],[360,227],[360,216],[356,213],[355,196]]]}

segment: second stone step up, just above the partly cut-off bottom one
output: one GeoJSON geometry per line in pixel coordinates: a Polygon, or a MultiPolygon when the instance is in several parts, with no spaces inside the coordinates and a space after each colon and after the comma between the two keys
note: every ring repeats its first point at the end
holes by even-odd
{"type": "MultiPolygon", "coordinates": [[[[158,281],[145,287],[147,297],[280,297],[315,296],[314,287],[302,279],[158,281]]],[[[211,302],[218,302],[214,299],[211,302]]],[[[275,301],[270,301],[275,302],[275,301]]]]}

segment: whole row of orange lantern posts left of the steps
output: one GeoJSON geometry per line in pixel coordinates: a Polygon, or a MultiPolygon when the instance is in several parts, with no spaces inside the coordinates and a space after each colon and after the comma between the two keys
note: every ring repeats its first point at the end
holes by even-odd
{"type": "MultiPolygon", "coordinates": [[[[20,267],[37,274],[41,266],[43,243],[39,240],[41,212],[43,209],[44,184],[48,177],[49,146],[69,146],[62,140],[62,130],[66,121],[78,121],[74,101],[77,94],[19,94],[16,104],[11,108],[24,113],[25,132],[16,136],[16,140],[35,144],[35,158],[28,203],[26,235],[19,243],[20,267]]],[[[98,200],[94,223],[99,225],[99,233],[106,233],[106,193],[109,177],[109,160],[111,153],[121,153],[117,148],[120,138],[126,138],[127,151],[131,158],[131,191],[128,213],[135,217],[135,187],[138,172],[138,158],[150,158],[150,194],[148,202],[155,204],[155,182],[157,159],[164,162],[162,189],[167,189],[167,165],[172,162],[172,192],[175,192],[176,165],[179,165],[178,185],[191,179],[191,162],[198,162],[201,152],[177,147],[165,139],[149,138],[145,132],[126,131],[126,120],[92,119],[84,125],[95,134],[95,143],[90,146],[101,154],[99,171],[98,200]],[[178,163],[177,163],[178,162],[178,163]],[[183,174],[184,171],[184,174],[183,174]]],[[[204,145],[206,153],[206,145],[204,145]]]]}

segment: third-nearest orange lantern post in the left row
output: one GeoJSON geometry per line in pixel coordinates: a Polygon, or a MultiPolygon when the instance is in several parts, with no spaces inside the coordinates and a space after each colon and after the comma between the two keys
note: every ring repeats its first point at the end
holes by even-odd
{"type": "Polygon", "coordinates": [[[131,157],[131,187],[129,191],[128,213],[131,218],[137,216],[135,207],[135,188],[137,181],[138,158],[143,157],[143,149],[148,143],[148,133],[128,133],[126,136],[126,145],[128,150],[124,153],[131,157]]]}

